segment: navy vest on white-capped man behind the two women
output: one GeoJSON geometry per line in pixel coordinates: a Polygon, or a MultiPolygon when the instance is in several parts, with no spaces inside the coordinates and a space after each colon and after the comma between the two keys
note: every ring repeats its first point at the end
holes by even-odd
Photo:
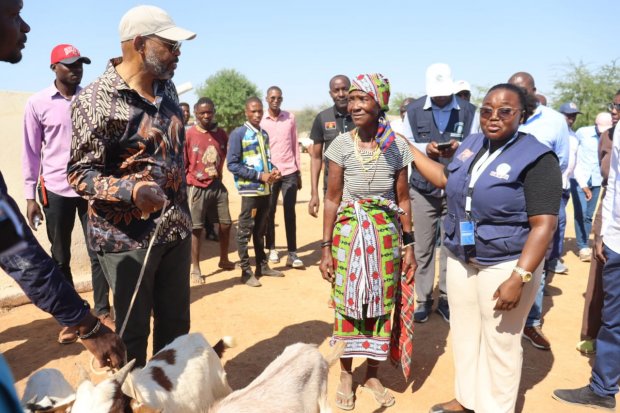
{"type": "MultiPolygon", "coordinates": [[[[413,101],[407,106],[407,119],[411,125],[413,139],[417,143],[428,142],[449,142],[451,139],[462,141],[469,135],[471,124],[476,114],[476,107],[471,103],[457,97],[460,110],[452,109],[450,120],[443,134],[439,133],[435,119],[433,118],[433,110],[431,108],[424,110],[426,96],[413,101]]],[[[452,159],[439,158],[439,162],[448,165],[452,159]]],[[[428,182],[418,170],[414,167],[409,178],[409,185],[417,189],[424,195],[440,196],[441,191],[433,184],[428,182]]]]}

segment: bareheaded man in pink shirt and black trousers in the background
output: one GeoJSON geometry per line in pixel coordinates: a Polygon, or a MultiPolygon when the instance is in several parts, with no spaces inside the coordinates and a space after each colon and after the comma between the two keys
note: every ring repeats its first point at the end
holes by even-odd
{"type": "Polygon", "coordinates": [[[278,197],[282,191],[284,206],[284,224],[286,227],[286,244],[288,257],[286,265],[302,268],[304,263],[297,256],[297,233],[295,204],[297,191],[301,189],[299,142],[295,115],[280,109],[282,90],[278,86],[267,89],[268,110],[260,123],[261,128],[269,134],[271,163],[282,173],[282,179],[271,187],[271,206],[267,218],[266,246],[269,248],[269,261],[280,262],[276,251],[275,215],[278,197]]]}

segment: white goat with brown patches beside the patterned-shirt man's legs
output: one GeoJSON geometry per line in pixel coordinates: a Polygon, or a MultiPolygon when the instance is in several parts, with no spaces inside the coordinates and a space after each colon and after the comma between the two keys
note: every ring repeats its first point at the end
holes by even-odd
{"type": "MultiPolygon", "coordinates": [[[[83,381],[74,401],[53,411],[71,413],[207,412],[232,392],[220,357],[231,340],[211,347],[199,333],[175,339],[131,371],[131,361],[112,377],[94,385],[83,381]],[[60,409],[60,410],[59,410],[60,409]]],[[[52,411],[52,410],[50,410],[52,411]]]]}

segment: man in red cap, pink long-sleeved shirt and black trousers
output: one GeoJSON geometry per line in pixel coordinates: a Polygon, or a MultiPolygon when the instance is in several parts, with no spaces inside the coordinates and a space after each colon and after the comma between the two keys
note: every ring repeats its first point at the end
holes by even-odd
{"type": "MultiPolygon", "coordinates": [[[[35,93],[24,111],[24,153],[22,166],[24,194],[28,223],[33,230],[45,214],[47,237],[52,258],[73,285],[71,274],[71,233],[77,213],[86,233],[88,201],[80,198],[67,182],[67,163],[71,150],[71,102],[81,90],[83,63],[90,59],[80,55],[69,44],[60,44],[52,50],[51,69],[56,75],[54,84],[35,93]],[[38,192],[41,207],[35,199],[38,192]]],[[[109,286],[97,255],[88,249],[90,257],[95,313],[112,330],[108,299],[109,286]]],[[[73,343],[73,330],[63,328],[58,336],[61,344],[73,343]]]]}

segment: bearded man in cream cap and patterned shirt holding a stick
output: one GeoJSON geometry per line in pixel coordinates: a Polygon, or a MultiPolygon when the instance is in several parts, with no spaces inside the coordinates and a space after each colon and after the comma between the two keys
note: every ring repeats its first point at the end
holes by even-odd
{"type": "Polygon", "coordinates": [[[122,57],[72,105],[68,179],[90,200],[88,240],[112,287],[128,360],[144,365],[151,313],[154,353],[189,331],[185,128],[170,79],[181,42],[196,35],[154,6],[129,10],[119,32],[122,57]]]}

